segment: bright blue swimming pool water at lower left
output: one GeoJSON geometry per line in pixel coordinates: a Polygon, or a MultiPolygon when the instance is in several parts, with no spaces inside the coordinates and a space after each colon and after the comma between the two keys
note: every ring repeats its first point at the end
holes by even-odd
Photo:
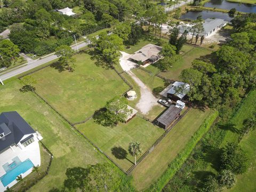
{"type": "Polygon", "coordinates": [[[9,185],[12,181],[14,181],[17,178],[17,176],[19,176],[22,173],[25,173],[33,166],[34,166],[34,164],[30,161],[30,159],[27,159],[26,161],[21,162],[19,165],[14,167],[14,169],[5,173],[0,178],[0,181],[3,183],[3,185],[5,187],[5,186],[9,185]]]}

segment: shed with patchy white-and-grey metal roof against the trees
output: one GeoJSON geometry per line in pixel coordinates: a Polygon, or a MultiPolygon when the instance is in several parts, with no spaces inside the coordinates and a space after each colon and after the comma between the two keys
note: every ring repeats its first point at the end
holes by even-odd
{"type": "Polygon", "coordinates": [[[189,90],[189,84],[183,82],[174,82],[171,89],[167,91],[167,98],[170,98],[173,101],[182,101],[182,99],[185,99],[189,90]]]}

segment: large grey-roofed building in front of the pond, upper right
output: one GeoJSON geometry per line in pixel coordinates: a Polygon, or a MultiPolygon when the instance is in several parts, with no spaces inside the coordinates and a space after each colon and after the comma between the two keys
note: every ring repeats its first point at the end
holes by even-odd
{"type": "MultiPolygon", "coordinates": [[[[199,36],[204,36],[205,38],[209,37],[214,31],[219,28],[222,28],[227,25],[227,21],[223,19],[205,19],[203,23],[204,31],[199,33],[199,36]]],[[[180,27],[180,33],[183,34],[187,30],[188,35],[193,35],[193,32],[190,31],[191,26],[185,25],[180,27]]],[[[197,33],[195,33],[197,35],[197,33]]]]}

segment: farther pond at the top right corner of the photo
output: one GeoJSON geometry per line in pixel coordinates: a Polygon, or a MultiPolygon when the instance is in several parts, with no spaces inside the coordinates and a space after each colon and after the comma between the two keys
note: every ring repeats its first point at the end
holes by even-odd
{"type": "Polygon", "coordinates": [[[219,9],[230,10],[235,8],[237,11],[246,13],[256,13],[256,5],[245,3],[234,3],[225,0],[211,0],[204,4],[205,7],[216,7],[219,9]]]}

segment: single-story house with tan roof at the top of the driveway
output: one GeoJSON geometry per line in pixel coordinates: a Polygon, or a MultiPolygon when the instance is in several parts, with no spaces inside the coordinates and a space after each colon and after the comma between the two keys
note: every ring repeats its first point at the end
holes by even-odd
{"type": "Polygon", "coordinates": [[[161,46],[153,45],[153,44],[147,44],[143,46],[140,50],[135,52],[131,55],[130,60],[135,62],[142,62],[143,65],[146,65],[147,63],[151,62],[154,63],[158,59],[161,58],[161,55],[159,52],[162,51],[161,46]]]}

